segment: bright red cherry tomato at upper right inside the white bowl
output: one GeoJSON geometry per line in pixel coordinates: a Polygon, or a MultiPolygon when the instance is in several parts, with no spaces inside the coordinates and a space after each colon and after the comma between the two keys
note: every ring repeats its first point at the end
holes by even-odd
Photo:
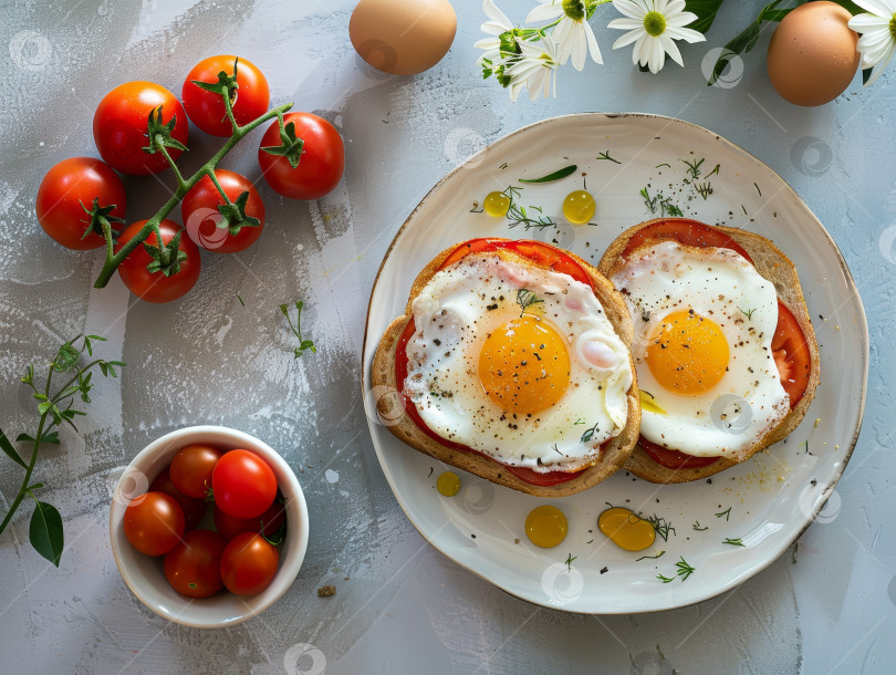
{"type": "Polygon", "coordinates": [[[237,518],[258,518],[277,497],[274,472],[249,450],[225,453],[215,466],[211,487],[218,508],[237,518]]]}

